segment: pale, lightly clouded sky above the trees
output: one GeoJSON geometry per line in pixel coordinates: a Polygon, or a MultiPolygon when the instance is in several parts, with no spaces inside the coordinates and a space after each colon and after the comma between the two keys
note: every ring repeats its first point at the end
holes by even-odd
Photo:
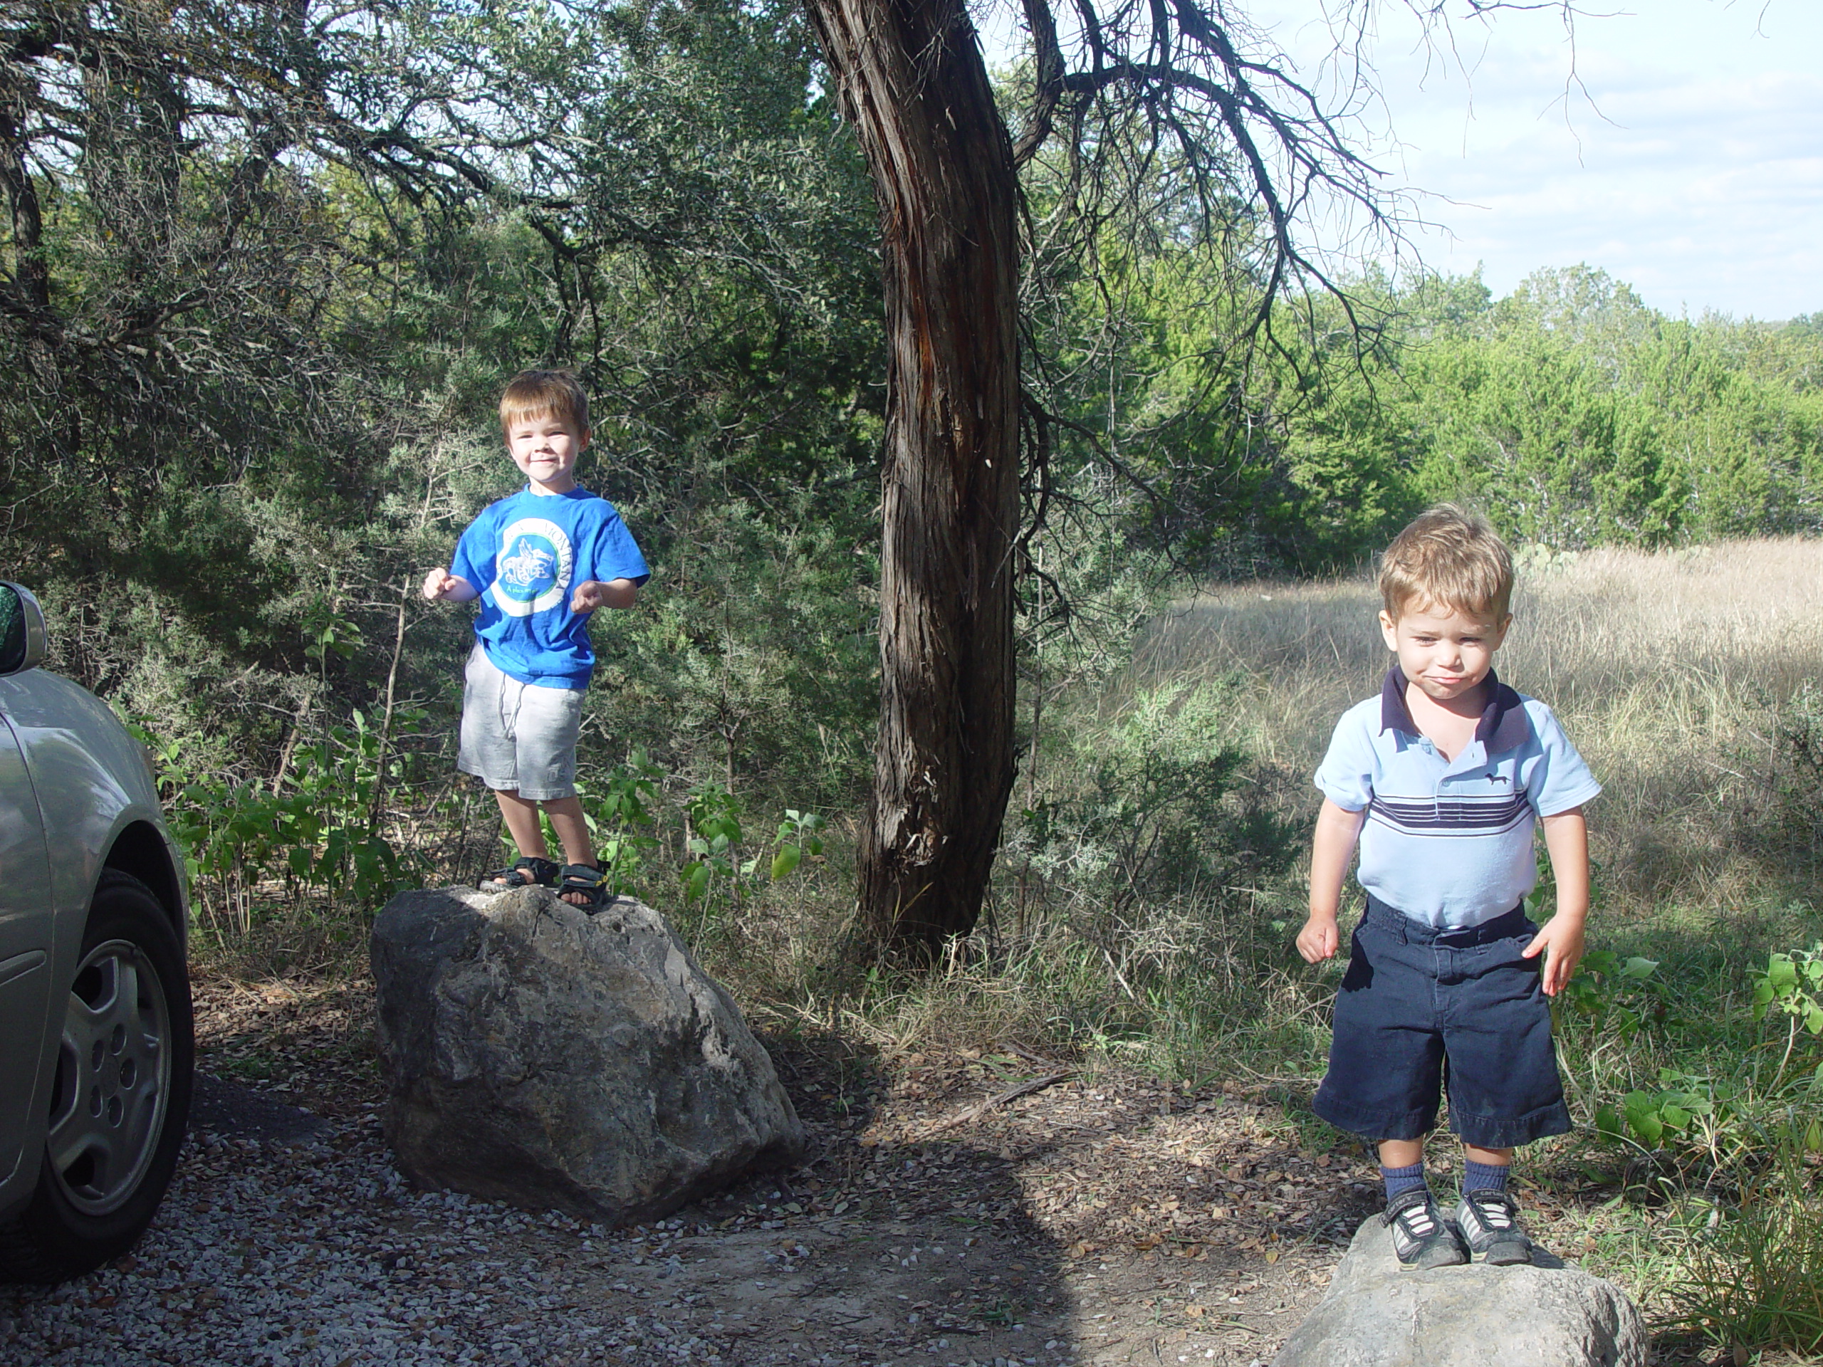
{"type": "MultiPolygon", "coordinates": [[[[1342,2],[1231,0],[1316,80],[1342,2]]],[[[1579,4],[1573,36],[1502,13],[1453,51],[1378,5],[1358,131],[1422,191],[1424,264],[1480,264],[1497,295],[1586,262],[1672,315],[1823,312],[1823,0],[1579,4]]]]}

